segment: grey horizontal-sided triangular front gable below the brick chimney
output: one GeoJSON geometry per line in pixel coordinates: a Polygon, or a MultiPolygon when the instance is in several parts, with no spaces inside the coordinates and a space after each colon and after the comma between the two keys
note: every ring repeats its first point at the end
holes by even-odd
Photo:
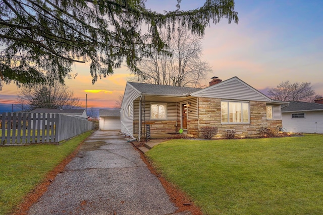
{"type": "Polygon", "coordinates": [[[266,96],[237,79],[197,91],[196,93],[192,93],[192,96],[247,101],[271,101],[266,96]]]}

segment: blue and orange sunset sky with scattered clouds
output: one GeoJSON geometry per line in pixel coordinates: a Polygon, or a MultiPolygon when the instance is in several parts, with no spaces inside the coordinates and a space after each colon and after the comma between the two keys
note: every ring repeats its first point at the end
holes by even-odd
{"type": "MultiPolygon", "coordinates": [[[[147,0],[146,7],[163,13],[176,10],[176,4],[176,0],[147,0]]],[[[182,0],[181,10],[200,6],[201,1],[182,0]]],[[[235,11],[238,25],[223,19],[205,31],[203,60],[213,69],[209,78],[224,81],[236,76],[263,93],[283,81],[311,82],[312,89],[323,95],[323,1],[236,0],[235,11]]],[[[84,107],[87,94],[87,107],[98,108],[114,107],[130,77],[123,67],[92,85],[88,64],[75,64],[73,73],[78,76],[66,80],[66,85],[84,107]]],[[[9,108],[5,111],[11,111],[18,92],[14,84],[0,91],[0,106],[9,108]]]]}

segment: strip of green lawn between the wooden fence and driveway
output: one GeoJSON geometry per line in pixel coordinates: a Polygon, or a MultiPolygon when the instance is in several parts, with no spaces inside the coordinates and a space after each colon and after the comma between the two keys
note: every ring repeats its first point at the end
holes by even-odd
{"type": "Polygon", "coordinates": [[[61,145],[0,147],[0,214],[7,214],[18,205],[91,133],[80,134],[61,145]]]}

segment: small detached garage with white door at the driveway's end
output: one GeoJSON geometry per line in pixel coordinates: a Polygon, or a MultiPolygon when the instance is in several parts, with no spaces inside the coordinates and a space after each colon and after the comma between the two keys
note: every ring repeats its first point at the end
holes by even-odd
{"type": "Polygon", "coordinates": [[[120,109],[100,109],[99,130],[121,130],[120,109]]]}

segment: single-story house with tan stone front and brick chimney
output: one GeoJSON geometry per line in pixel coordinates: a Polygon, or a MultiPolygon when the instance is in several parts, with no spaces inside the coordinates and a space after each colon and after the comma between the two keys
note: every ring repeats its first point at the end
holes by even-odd
{"type": "Polygon", "coordinates": [[[237,77],[222,82],[213,77],[204,89],[128,82],[121,106],[121,131],[139,138],[145,124],[150,133],[183,129],[202,137],[201,128],[216,126],[218,136],[259,136],[259,128],[282,126],[281,105],[237,77]]]}

